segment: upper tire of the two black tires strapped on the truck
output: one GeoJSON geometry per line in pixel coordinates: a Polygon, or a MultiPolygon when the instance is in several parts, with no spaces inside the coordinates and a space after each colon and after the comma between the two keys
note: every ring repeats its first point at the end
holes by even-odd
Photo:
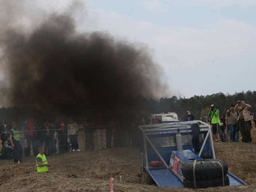
{"type": "MultiPolygon", "coordinates": [[[[220,164],[212,163],[210,161],[220,162],[223,167],[224,175],[228,173],[228,164],[220,159],[203,159],[196,161],[195,176],[196,180],[207,180],[222,177],[222,170],[220,164]]],[[[193,180],[193,164],[194,160],[183,164],[181,172],[183,177],[193,180]]]]}

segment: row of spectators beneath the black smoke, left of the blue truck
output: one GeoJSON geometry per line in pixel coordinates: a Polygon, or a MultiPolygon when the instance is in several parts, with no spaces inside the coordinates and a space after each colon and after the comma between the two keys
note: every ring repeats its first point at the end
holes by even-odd
{"type": "MultiPolygon", "coordinates": [[[[94,135],[97,136],[98,149],[130,145],[138,146],[138,126],[144,123],[148,124],[149,121],[150,119],[145,110],[140,110],[137,116],[134,112],[129,115],[120,115],[118,112],[100,112],[95,116],[86,116],[80,124],[76,123],[72,117],[60,116],[54,122],[50,117],[43,121],[40,118],[33,118],[29,115],[23,127],[17,130],[19,133],[23,132],[24,141],[26,141],[24,146],[25,156],[37,156],[39,153],[38,148],[40,147],[44,147],[46,156],[51,156],[54,153],[66,153],[70,150],[70,147],[72,152],[80,151],[78,134],[81,130],[84,130],[85,150],[95,149],[94,135]],[[56,147],[57,140],[58,147],[56,147]]],[[[158,122],[154,121],[154,123],[158,122]]],[[[14,149],[12,148],[10,135],[12,135],[11,127],[9,127],[7,119],[3,118],[3,124],[0,128],[2,140],[1,159],[13,158],[14,149]]],[[[19,150],[21,145],[23,145],[22,140],[19,150]]],[[[14,160],[17,162],[17,158],[14,160]]]]}

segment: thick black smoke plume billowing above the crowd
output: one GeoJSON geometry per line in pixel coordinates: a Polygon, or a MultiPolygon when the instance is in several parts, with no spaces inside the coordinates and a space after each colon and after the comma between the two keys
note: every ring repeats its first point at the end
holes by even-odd
{"type": "Polygon", "coordinates": [[[78,33],[68,14],[52,14],[29,34],[7,31],[0,44],[6,66],[2,97],[9,105],[43,111],[77,102],[114,107],[165,89],[162,69],[145,44],[106,32],[78,33]]]}

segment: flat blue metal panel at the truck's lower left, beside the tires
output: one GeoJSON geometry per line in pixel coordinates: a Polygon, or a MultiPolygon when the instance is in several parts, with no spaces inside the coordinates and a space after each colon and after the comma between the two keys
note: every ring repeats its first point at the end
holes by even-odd
{"type": "Polygon", "coordinates": [[[180,179],[170,169],[148,169],[147,172],[157,186],[184,187],[180,179]]]}

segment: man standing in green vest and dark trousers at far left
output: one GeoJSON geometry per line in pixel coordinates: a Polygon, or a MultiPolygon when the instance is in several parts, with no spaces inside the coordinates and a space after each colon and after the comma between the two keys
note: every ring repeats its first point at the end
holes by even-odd
{"type": "Polygon", "coordinates": [[[12,129],[10,130],[10,141],[12,144],[12,156],[14,158],[14,162],[18,161],[22,162],[22,148],[20,144],[20,133],[17,129],[17,123],[12,122],[12,129]]]}

